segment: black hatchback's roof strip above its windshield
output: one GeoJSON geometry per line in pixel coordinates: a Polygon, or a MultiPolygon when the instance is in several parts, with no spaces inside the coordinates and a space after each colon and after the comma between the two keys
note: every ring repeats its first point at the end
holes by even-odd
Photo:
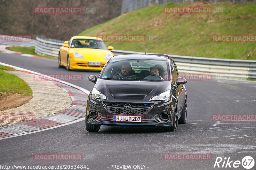
{"type": "Polygon", "coordinates": [[[165,54],[124,54],[115,55],[111,59],[152,59],[152,60],[165,60],[167,61],[170,56],[165,54]]]}

